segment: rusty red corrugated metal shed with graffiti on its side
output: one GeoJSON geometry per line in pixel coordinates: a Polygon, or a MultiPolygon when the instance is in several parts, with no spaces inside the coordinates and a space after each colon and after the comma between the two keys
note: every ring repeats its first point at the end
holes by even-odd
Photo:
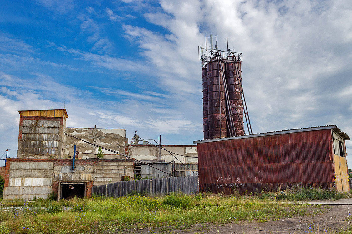
{"type": "Polygon", "coordinates": [[[194,141],[199,188],[243,194],[300,185],[346,192],[345,140],[350,137],[330,125],[194,141]]]}

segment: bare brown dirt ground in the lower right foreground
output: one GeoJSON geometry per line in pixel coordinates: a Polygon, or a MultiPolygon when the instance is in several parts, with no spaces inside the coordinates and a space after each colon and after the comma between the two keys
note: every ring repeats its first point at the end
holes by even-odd
{"type": "Polygon", "coordinates": [[[326,230],[347,229],[347,206],[320,206],[325,210],[323,213],[313,214],[314,208],[308,210],[309,214],[295,216],[279,220],[269,220],[268,222],[240,221],[238,224],[232,222],[227,224],[214,225],[212,223],[202,223],[173,229],[172,227],[144,228],[131,230],[126,233],[147,234],[266,234],[266,233],[327,233],[326,230]],[[319,226],[319,232],[318,232],[319,226]]]}

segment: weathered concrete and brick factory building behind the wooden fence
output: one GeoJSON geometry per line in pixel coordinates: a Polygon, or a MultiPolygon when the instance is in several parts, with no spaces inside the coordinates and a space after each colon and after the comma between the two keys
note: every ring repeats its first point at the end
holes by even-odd
{"type": "MultiPolygon", "coordinates": [[[[134,159],[109,151],[103,152],[105,155],[102,159],[97,159],[98,147],[90,143],[130,154],[132,158],[152,163],[177,176],[193,174],[182,163],[195,173],[198,170],[196,146],[164,145],[167,151],[152,145],[128,147],[125,129],[66,127],[68,114],[65,109],[18,112],[17,159],[7,159],[6,167],[0,168],[5,178],[4,199],[45,199],[51,193],[57,194],[58,199],[75,195],[89,197],[94,185],[121,181],[124,176],[133,180],[136,171],[134,159]]],[[[136,165],[137,169],[140,168],[137,170],[139,174],[142,164],[136,165]]],[[[157,178],[168,176],[146,165],[141,175],[157,178]]]]}

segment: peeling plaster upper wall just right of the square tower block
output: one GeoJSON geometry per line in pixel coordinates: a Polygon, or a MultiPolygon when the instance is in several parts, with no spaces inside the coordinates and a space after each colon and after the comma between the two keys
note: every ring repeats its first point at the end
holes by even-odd
{"type": "MultiPolygon", "coordinates": [[[[126,147],[126,130],[125,129],[108,129],[108,128],[66,128],[67,133],[80,139],[89,141],[96,145],[112,149],[119,153],[125,153],[126,147]]],[[[77,144],[76,151],[80,152],[78,158],[94,158],[95,155],[84,153],[98,153],[98,147],[89,145],[86,142],[79,141],[69,136],[66,137],[65,156],[73,155],[74,143],[77,144]],[[82,154],[81,154],[82,153],[82,154]]],[[[104,154],[113,154],[109,151],[103,151],[104,154]]],[[[105,155],[104,159],[122,159],[120,155],[105,155]]]]}

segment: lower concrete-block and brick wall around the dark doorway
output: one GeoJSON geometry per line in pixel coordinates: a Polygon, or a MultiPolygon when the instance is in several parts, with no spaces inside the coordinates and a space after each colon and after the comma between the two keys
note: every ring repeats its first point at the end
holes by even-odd
{"type": "Polygon", "coordinates": [[[93,185],[121,181],[126,166],[133,178],[133,160],[77,159],[75,170],[72,159],[8,159],[5,170],[4,199],[46,199],[58,192],[59,182],[86,182],[87,196],[93,185]]]}

